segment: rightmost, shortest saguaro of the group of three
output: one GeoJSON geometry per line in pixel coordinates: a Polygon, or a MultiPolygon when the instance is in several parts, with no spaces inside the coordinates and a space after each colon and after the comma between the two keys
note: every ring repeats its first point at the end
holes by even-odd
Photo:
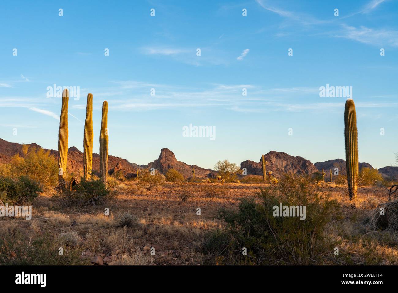
{"type": "Polygon", "coordinates": [[[100,132],[100,174],[101,181],[106,184],[108,174],[108,102],[102,103],[102,119],[100,132]]]}

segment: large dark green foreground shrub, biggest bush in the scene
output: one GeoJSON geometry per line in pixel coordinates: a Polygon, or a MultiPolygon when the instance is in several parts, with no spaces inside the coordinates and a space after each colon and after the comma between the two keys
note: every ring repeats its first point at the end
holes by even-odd
{"type": "Polygon", "coordinates": [[[317,181],[309,177],[283,176],[276,186],[261,189],[259,202],[241,201],[238,211],[220,209],[225,221],[221,232],[211,232],[203,248],[223,264],[322,264],[336,243],[324,233],[339,218],[336,200],[321,195],[317,181]],[[275,217],[274,207],[305,206],[306,218],[275,217]],[[243,249],[247,255],[243,255],[243,249]]]}

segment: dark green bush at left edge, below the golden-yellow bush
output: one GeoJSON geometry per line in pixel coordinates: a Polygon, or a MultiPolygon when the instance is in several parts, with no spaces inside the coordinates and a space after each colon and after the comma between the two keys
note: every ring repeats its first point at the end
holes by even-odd
{"type": "Polygon", "coordinates": [[[39,182],[26,176],[0,178],[0,200],[9,205],[23,205],[35,199],[42,191],[39,182]]]}

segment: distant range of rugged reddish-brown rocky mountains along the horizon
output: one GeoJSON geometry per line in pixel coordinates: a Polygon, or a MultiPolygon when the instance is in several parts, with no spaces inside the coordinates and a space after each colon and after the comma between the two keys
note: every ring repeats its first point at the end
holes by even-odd
{"type": "MultiPolygon", "coordinates": [[[[40,147],[39,145],[32,143],[29,146],[40,147]]],[[[10,143],[4,139],[0,139],[0,162],[8,163],[11,161],[11,157],[15,154],[21,154],[22,145],[19,143],[10,143]]],[[[55,157],[58,156],[57,150],[50,150],[51,154],[55,157]]],[[[335,168],[339,169],[339,172],[345,173],[345,160],[336,159],[328,160],[325,162],[316,162],[312,164],[309,160],[306,160],[300,156],[291,156],[285,152],[276,152],[271,150],[267,154],[264,154],[264,158],[267,161],[267,171],[272,171],[273,175],[278,177],[283,173],[292,174],[312,174],[317,171],[322,171],[322,168],[326,172],[326,178],[329,177],[329,170],[332,170],[334,177],[335,168]]],[[[246,160],[240,163],[240,168],[246,168],[248,175],[262,175],[262,164],[261,157],[258,162],[246,160]]],[[[100,156],[99,154],[93,153],[93,170],[98,172],[100,168],[100,156]]],[[[160,155],[157,160],[150,162],[146,165],[137,165],[130,163],[126,159],[119,158],[116,156],[108,156],[108,172],[111,174],[115,171],[122,170],[127,177],[133,177],[137,174],[137,168],[155,168],[162,174],[165,174],[168,169],[173,168],[183,174],[185,178],[192,177],[192,168],[195,168],[195,177],[207,178],[214,177],[216,172],[211,169],[201,168],[196,165],[185,164],[176,159],[174,153],[168,148],[162,148],[160,155]]],[[[359,169],[362,168],[373,168],[369,163],[359,163],[359,169]]],[[[68,172],[82,172],[83,170],[83,153],[76,147],[70,147],[68,149],[68,172]]],[[[383,178],[394,178],[398,180],[398,166],[386,166],[378,169],[378,172],[383,178]]]]}

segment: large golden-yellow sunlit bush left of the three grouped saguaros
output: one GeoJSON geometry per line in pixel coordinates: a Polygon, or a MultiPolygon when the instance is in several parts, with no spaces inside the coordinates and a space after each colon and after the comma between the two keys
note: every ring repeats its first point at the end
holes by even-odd
{"type": "Polygon", "coordinates": [[[42,189],[52,189],[58,185],[58,163],[49,150],[22,146],[22,156],[16,154],[11,159],[11,173],[37,180],[42,189]]]}

